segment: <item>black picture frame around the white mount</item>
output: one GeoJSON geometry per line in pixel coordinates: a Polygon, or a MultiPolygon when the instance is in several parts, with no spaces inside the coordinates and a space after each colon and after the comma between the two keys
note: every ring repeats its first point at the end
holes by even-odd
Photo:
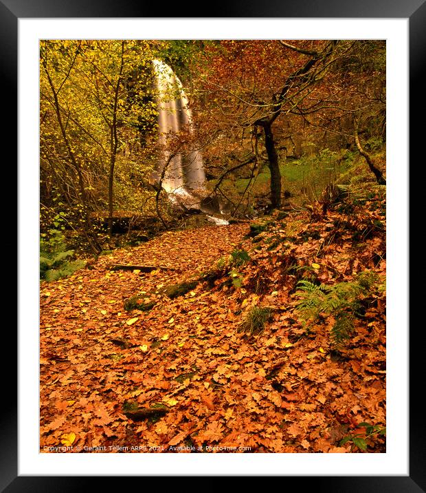
{"type": "MultiPolygon", "coordinates": [[[[210,12],[194,10],[197,7],[189,7],[182,11],[181,3],[175,6],[160,6],[159,3],[148,3],[146,1],[120,0],[111,2],[106,0],[0,0],[0,40],[2,47],[0,54],[1,84],[3,85],[3,107],[10,104],[10,109],[3,112],[0,118],[1,136],[3,137],[3,151],[6,147],[17,149],[17,33],[18,20],[23,18],[64,18],[64,17],[104,17],[104,18],[128,18],[141,17],[153,18],[164,17],[167,9],[169,18],[178,17],[300,17],[300,18],[404,18],[409,19],[410,32],[410,162],[414,162],[413,156],[422,156],[420,146],[423,143],[423,105],[421,104],[421,90],[423,89],[423,68],[426,56],[426,0],[312,0],[309,2],[296,2],[289,0],[273,0],[269,2],[256,2],[254,0],[228,0],[220,5],[211,7],[210,12]],[[192,15],[188,10],[192,9],[192,15]],[[212,15],[214,13],[214,15],[212,15]],[[417,152],[416,152],[417,151],[417,152]]],[[[8,166],[2,171],[8,187],[16,180],[16,169],[13,160],[8,159],[8,166]],[[7,169],[6,169],[7,168],[7,169]]],[[[420,167],[423,162],[414,162],[414,167],[420,167]]],[[[12,188],[12,187],[10,187],[12,188]]],[[[414,191],[410,182],[410,205],[414,191]]],[[[3,202],[4,205],[4,202],[3,202]]],[[[412,209],[412,207],[410,207],[412,209]]],[[[3,240],[7,253],[13,251],[13,238],[17,238],[17,230],[13,229],[14,221],[11,212],[8,211],[7,238],[3,240]]],[[[5,218],[3,218],[5,220],[5,218]]],[[[412,231],[414,225],[410,217],[409,226],[412,231]]],[[[16,248],[17,251],[17,248],[16,248]]],[[[410,249],[410,256],[412,250],[410,249]]],[[[419,266],[423,263],[420,256],[415,259],[419,266]]],[[[16,275],[14,265],[16,262],[7,262],[10,275],[3,282],[10,282],[16,275]]],[[[18,266],[19,268],[19,266],[18,266]]],[[[420,290],[421,291],[421,290],[420,290]]],[[[10,293],[13,291],[10,290],[10,293]]],[[[401,293],[407,296],[408,293],[401,293]]],[[[11,300],[12,302],[12,300],[11,300]]],[[[13,303],[13,302],[12,302],[13,303]]],[[[5,303],[6,304],[6,303],[5,303]]],[[[411,309],[421,304],[419,290],[410,290],[410,313],[411,309]],[[412,294],[411,294],[412,291],[412,294]],[[417,294],[418,293],[418,294],[417,294]]],[[[8,304],[7,310],[10,311],[8,304]]],[[[16,335],[11,329],[16,317],[12,314],[12,321],[3,324],[4,334],[3,353],[7,351],[13,356],[12,348],[16,344],[16,335]],[[6,348],[6,349],[4,349],[6,348]]],[[[420,322],[421,323],[421,322],[420,322]]],[[[417,327],[416,327],[417,328],[417,327]]],[[[412,334],[410,341],[410,475],[409,476],[298,476],[283,478],[282,487],[313,487],[315,491],[336,492],[421,492],[426,491],[426,446],[425,425],[423,419],[423,385],[421,382],[421,363],[423,362],[423,344],[418,334],[421,334],[421,326],[418,333],[412,334]],[[418,339],[418,342],[417,342],[418,339]],[[417,343],[417,344],[416,344],[417,343]]],[[[68,492],[75,490],[90,490],[99,488],[99,478],[93,476],[18,476],[18,448],[17,448],[17,381],[10,376],[13,368],[17,365],[3,360],[2,394],[3,399],[0,406],[0,487],[6,492],[68,492]]],[[[24,403],[20,403],[24,405],[24,403]]],[[[404,423],[401,425],[403,428],[404,423]]],[[[194,474],[197,474],[194,472],[194,474]]],[[[200,478],[203,479],[203,478],[200,478]]],[[[218,478],[212,478],[208,483],[212,488],[218,478]]],[[[122,487],[122,479],[108,477],[109,487],[122,487]]],[[[161,481],[163,481],[161,479],[161,481]]],[[[146,484],[146,483],[144,483],[146,484]]],[[[140,484],[142,486],[142,483],[140,484]]],[[[162,483],[161,488],[164,487],[162,483]]],[[[179,487],[175,483],[175,487],[179,487]]],[[[186,485],[188,487],[188,485],[186,485]]]]}

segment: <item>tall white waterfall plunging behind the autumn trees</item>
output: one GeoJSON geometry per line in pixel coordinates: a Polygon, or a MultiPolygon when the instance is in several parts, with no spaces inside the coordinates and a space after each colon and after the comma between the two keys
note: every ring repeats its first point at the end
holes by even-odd
{"type": "MultiPolygon", "coordinates": [[[[177,133],[186,129],[193,134],[194,127],[188,97],[177,75],[162,61],[153,60],[153,66],[158,93],[159,140],[166,149],[166,140],[170,132],[177,133]]],[[[166,150],[160,163],[161,171],[169,159],[170,151],[166,150]]],[[[193,198],[194,205],[197,205],[197,192],[205,191],[204,182],[203,158],[201,152],[194,149],[171,158],[162,186],[171,196],[189,200],[193,198]]]]}

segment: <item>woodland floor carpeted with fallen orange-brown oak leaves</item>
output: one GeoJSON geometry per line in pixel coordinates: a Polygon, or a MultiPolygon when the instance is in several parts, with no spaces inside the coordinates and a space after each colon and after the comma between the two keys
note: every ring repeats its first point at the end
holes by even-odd
{"type": "Polygon", "coordinates": [[[332,316],[307,330],[295,308],[306,275],[332,285],[384,273],[384,204],[278,217],[251,237],[248,222],[167,232],[43,282],[41,451],[384,452],[385,437],[359,427],[385,426],[384,297],[341,350],[332,316]],[[232,270],[237,249],[250,260],[232,270]],[[129,298],[155,305],[128,311],[129,298]],[[273,315],[250,337],[239,328],[252,306],[273,315]]]}

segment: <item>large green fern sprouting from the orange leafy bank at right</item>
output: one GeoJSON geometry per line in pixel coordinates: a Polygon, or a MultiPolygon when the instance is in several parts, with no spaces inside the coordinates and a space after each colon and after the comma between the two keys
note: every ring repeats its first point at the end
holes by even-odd
{"type": "Polygon", "coordinates": [[[306,325],[316,322],[321,316],[335,317],[330,330],[332,344],[339,348],[350,337],[354,319],[359,317],[361,302],[375,286],[381,291],[383,282],[372,271],[364,271],[351,282],[338,282],[333,286],[313,284],[307,280],[298,282],[296,295],[300,302],[296,306],[306,325]]]}

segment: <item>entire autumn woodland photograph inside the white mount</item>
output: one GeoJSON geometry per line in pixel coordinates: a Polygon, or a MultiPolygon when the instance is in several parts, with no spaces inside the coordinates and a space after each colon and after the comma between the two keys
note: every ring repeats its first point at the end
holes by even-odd
{"type": "Polygon", "coordinates": [[[40,41],[41,452],[386,451],[385,60],[40,41]]]}

